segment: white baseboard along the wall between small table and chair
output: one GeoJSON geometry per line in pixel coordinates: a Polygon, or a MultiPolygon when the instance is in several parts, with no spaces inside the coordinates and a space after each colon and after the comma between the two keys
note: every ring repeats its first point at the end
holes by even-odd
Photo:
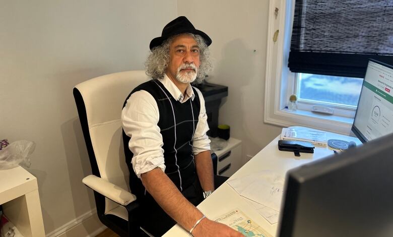
{"type": "Polygon", "coordinates": [[[106,228],[98,219],[97,210],[94,208],[46,234],[46,237],[93,237],[106,228]]]}

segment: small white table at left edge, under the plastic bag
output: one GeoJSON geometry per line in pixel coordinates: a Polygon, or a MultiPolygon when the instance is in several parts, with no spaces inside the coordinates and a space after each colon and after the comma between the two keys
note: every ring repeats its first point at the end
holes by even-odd
{"type": "Polygon", "coordinates": [[[37,179],[21,166],[0,170],[0,204],[24,237],[45,236],[37,179]]]}

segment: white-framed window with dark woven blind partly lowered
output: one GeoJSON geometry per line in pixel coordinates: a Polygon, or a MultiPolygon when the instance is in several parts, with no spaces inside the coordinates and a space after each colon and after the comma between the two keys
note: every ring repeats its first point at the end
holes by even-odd
{"type": "Polygon", "coordinates": [[[368,16],[364,11],[373,14],[366,20],[355,19],[355,23],[348,23],[345,8],[354,9],[356,2],[365,4],[364,1],[356,0],[298,0],[296,5],[294,0],[270,1],[265,123],[283,127],[301,125],[349,134],[368,58],[372,56],[393,63],[393,27],[391,24],[381,24],[391,22],[392,14],[388,13],[392,12],[393,4],[372,1],[366,7],[355,7],[363,18],[368,16]],[[326,13],[326,6],[332,4],[335,6],[328,9],[333,13],[326,13]],[[318,21],[320,15],[323,21],[318,21]],[[307,24],[301,21],[307,21],[307,24]],[[362,29],[360,33],[351,31],[354,24],[362,29]],[[370,27],[378,27],[377,33],[367,31],[370,27]],[[344,33],[337,33],[338,28],[342,28],[344,33]],[[278,37],[275,37],[277,33],[278,37]],[[360,39],[364,39],[361,42],[356,40],[359,34],[362,35],[360,39]],[[326,37],[331,35],[332,39],[326,37]],[[382,41],[385,46],[381,45],[382,41]],[[359,50],[356,43],[372,51],[359,50]],[[291,94],[298,97],[296,112],[286,109],[291,94]],[[334,114],[311,112],[316,105],[332,107],[334,114]]]}

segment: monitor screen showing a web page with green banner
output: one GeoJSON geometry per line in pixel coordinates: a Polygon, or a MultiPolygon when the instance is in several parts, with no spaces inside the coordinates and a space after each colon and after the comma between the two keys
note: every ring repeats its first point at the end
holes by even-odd
{"type": "Polygon", "coordinates": [[[393,66],[368,62],[352,131],[363,143],[393,133],[393,66]]]}

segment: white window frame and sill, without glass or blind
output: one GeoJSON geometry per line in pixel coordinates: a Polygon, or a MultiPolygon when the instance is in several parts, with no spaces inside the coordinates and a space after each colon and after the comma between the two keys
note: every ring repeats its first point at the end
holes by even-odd
{"type": "MultiPolygon", "coordinates": [[[[264,122],[281,127],[305,126],[349,135],[353,124],[352,114],[325,115],[310,110],[294,112],[285,108],[287,98],[295,90],[295,73],[289,71],[288,56],[295,0],[269,0],[268,41],[265,77],[264,122]],[[275,10],[278,9],[276,17],[275,10]],[[275,33],[278,30],[278,37],[275,33]],[[274,38],[277,38],[274,41],[274,38]]],[[[303,108],[304,103],[299,107],[303,108]]],[[[340,108],[335,110],[346,112],[340,108]]]]}

